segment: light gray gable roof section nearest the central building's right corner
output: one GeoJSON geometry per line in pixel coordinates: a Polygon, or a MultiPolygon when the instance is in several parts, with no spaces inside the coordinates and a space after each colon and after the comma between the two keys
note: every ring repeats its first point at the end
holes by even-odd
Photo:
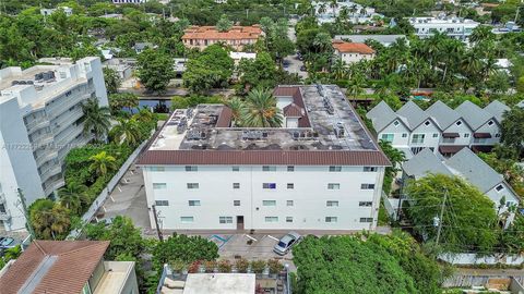
{"type": "Polygon", "coordinates": [[[428,173],[442,173],[453,175],[453,173],[442,163],[429,148],[422,149],[416,156],[402,164],[404,172],[415,179],[422,177],[428,173]]]}

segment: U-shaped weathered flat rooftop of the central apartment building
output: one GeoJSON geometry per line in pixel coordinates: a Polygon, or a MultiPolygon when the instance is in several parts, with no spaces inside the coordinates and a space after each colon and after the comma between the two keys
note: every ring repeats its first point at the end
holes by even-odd
{"type": "Polygon", "coordinates": [[[154,139],[150,150],[377,150],[358,114],[336,86],[300,86],[310,127],[221,127],[228,109],[223,105],[199,105],[178,109],[154,139]],[[324,95],[324,96],[322,96],[324,95]],[[324,107],[324,97],[333,113],[324,107]],[[344,130],[337,136],[335,128],[344,130]]]}

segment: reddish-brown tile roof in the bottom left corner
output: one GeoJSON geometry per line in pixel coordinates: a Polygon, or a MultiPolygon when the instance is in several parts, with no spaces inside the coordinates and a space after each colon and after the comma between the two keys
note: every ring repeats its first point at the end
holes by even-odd
{"type": "Polygon", "coordinates": [[[26,293],[31,280],[37,283],[31,293],[81,293],[108,246],[108,241],[34,241],[0,277],[0,293],[26,293]],[[49,258],[56,260],[46,268],[49,258]]]}

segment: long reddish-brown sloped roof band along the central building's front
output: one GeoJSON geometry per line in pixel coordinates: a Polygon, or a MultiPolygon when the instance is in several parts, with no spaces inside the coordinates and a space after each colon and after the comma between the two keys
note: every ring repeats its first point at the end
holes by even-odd
{"type": "Polygon", "coordinates": [[[147,150],[140,166],[274,164],[274,166],[390,166],[380,151],[353,150],[147,150]]]}

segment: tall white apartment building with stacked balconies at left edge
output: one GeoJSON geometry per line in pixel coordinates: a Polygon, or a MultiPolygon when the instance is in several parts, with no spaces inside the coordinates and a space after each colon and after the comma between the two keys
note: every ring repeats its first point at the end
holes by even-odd
{"type": "Polygon", "coordinates": [[[0,224],[25,228],[17,188],[27,205],[63,186],[63,159],[92,137],[82,134],[82,103],[107,106],[98,58],[72,64],[0,70],[0,224]]]}

